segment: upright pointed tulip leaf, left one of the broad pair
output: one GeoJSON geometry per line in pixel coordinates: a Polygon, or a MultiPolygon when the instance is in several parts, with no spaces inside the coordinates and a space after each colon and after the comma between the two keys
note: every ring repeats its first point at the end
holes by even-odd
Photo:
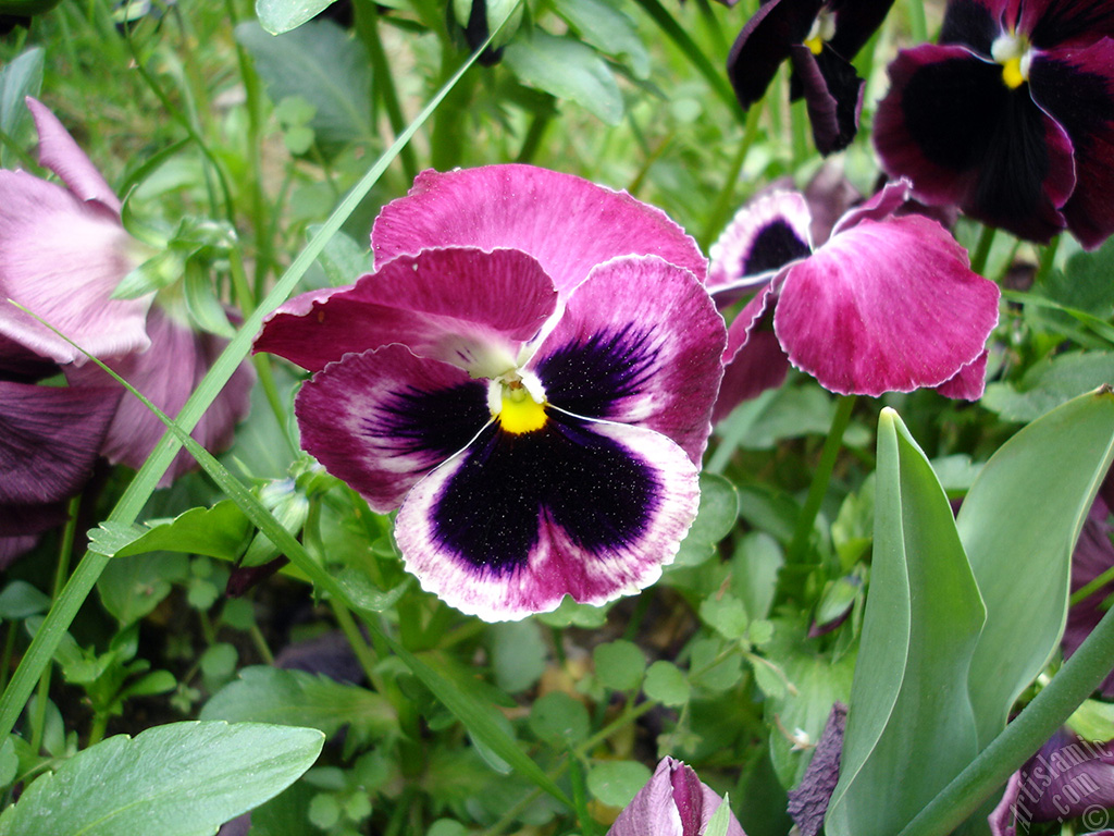
{"type": "Polygon", "coordinates": [[[883,409],[870,590],[830,836],[892,836],[975,757],[967,675],[985,618],[947,495],[883,409]]]}

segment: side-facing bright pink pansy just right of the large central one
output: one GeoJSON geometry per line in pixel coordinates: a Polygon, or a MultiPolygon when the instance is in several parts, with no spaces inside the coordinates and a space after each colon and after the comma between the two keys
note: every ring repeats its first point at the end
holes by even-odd
{"type": "Polygon", "coordinates": [[[895,215],[907,196],[908,184],[889,184],[815,249],[800,194],[775,192],[735,215],[712,247],[709,290],[758,293],[729,330],[716,420],[779,386],[790,363],[843,395],[981,396],[998,288],[937,222],[895,215]]]}

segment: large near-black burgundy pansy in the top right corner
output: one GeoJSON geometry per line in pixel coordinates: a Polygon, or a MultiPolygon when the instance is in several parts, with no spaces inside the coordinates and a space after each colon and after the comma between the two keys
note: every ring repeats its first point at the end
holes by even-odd
{"type": "Polygon", "coordinates": [[[917,197],[1087,249],[1114,232],[1114,7],[951,0],[939,45],[903,50],[874,145],[917,197]]]}

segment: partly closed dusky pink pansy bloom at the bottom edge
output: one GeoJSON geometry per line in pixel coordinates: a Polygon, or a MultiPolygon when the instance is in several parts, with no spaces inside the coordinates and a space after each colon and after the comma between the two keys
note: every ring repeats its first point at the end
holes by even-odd
{"type": "MultiPolygon", "coordinates": [[[[700,836],[723,803],[691,766],[662,758],[607,836],[700,836]]],[[[727,836],[746,836],[734,813],[727,819],[727,836]]]]}

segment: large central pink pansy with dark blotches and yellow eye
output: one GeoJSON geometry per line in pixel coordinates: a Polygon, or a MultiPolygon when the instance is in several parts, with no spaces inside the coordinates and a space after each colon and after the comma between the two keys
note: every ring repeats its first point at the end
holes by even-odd
{"type": "Polygon", "coordinates": [[[422,585],[489,620],[653,583],[696,512],[724,325],[661,211],[520,165],[426,172],[377,270],[287,302],[256,350],[315,372],[302,445],[422,585]]]}

